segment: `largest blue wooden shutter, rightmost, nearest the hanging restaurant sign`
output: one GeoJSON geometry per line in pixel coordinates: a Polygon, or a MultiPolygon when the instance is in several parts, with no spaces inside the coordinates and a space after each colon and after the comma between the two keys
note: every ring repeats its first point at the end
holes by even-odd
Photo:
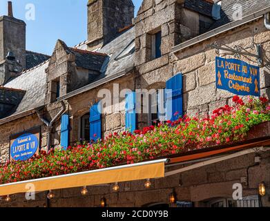
{"type": "Polygon", "coordinates": [[[166,119],[175,121],[183,115],[182,74],[166,81],[166,119]],[[175,115],[178,113],[178,115],[175,115]]]}

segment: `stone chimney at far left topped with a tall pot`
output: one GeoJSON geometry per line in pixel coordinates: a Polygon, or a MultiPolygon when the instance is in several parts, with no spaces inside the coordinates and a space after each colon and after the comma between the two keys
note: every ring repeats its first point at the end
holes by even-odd
{"type": "Polygon", "coordinates": [[[0,85],[6,84],[26,67],[26,23],[13,17],[8,1],[8,16],[0,17],[0,85]]]}

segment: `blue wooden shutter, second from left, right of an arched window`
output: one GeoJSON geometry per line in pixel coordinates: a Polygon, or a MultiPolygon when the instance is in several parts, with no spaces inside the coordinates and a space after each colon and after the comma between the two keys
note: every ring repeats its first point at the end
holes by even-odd
{"type": "Polygon", "coordinates": [[[102,138],[102,108],[101,103],[94,104],[90,108],[90,140],[95,142],[102,138]]]}

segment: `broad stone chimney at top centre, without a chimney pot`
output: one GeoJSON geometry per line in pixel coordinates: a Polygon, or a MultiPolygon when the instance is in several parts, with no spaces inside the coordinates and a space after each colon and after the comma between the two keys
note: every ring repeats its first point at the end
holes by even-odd
{"type": "Polygon", "coordinates": [[[99,48],[130,26],[134,17],[132,0],[88,0],[88,49],[99,48]]]}

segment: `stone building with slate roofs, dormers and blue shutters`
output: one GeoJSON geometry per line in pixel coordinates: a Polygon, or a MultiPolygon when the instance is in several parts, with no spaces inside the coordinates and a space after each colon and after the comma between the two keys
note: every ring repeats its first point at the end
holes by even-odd
{"type": "MultiPolygon", "coordinates": [[[[126,128],[143,128],[157,120],[153,113],[127,115],[128,97],[117,95],[122,90],[173,89],[177,91],[173,110],[182,115],[211,115],[215,108],[232,104],[234,94],[216,87],[215,59],[234,55],[224,47],[217,51],[218,46],[249,52],[238,58],[260,66],[260,93],[270,98],[268,0],[144,0],[135,18],[131,0],[89,0],[88,39],[74,47],[58,40],[51,56],[26,50],[26,24],[13,17],[11,8],[8,16],[0,17],[2,164],[10,159],[12,137],[33,128],[39,134],[39,148],[48,151],[80,139],[97,140],[126,128]],[[176,88],[170,88],[171,79],[176,88]],[[101,91],[110,92],[111,100],[118,97],[119,102],[93,117],[101,91]]],[[[133,108],[144,108],[133,103],[133,108]]],[[[209,148],[204,157],[197,152],[178,156],[175,164],[165,167],[172,175],[151,179],[151,189],[145,189],[144,181],[133,180],[119,183],[117,193],[113,184],[106,184],[88,186],[88,195],[81,196],[77,186],[55,190],[55,198],[49,201],[43,191],[36,200],[17,193],[10,196],[11,202],[2,199],[0,204],[99,206],[106,198],[107,206],[168,206],[168,196],[174,192],[178,206],[183,202],[270,206],[269,193],[258,195],[258,184],[270,186],[269,139],[267,123],[251,131],[247,142],[209,148]],[[235,183],[242,184],[245,200],[232,200],[235,183]]]]}

